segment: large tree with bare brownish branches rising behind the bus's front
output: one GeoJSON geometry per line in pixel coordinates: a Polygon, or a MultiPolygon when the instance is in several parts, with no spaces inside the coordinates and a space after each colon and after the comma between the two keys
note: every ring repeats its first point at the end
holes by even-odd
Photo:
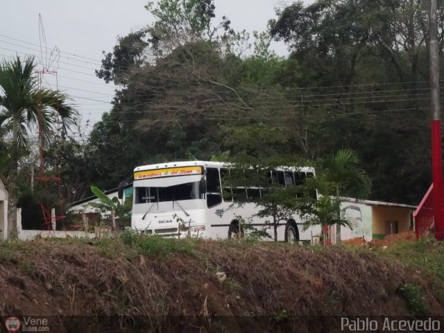
{"type": "Polygon", "coordinates": [[[235,34],[226,18],[214,23],[213,1],[164,0],[146,9],[155,23],[119,37],[97,71],[120,85],[112,111],[89,140],[94,167],[114,184],[137,164],[186,159],[189,153],[205,160],[231,148],[237,129],[267,121],[260,101],[280,112],[268,99],[271,92],[256,94],[253,83],[266,87],[279,66],[277,57],[268,57],[270,37],[257,35],[258,56],[247,62],[239,45],[248,36],[235,34]]]}

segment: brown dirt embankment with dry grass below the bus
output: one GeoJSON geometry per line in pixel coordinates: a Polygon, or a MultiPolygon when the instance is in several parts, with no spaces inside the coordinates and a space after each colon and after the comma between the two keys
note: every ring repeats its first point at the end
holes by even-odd
{"type": "Polygon", "coordinates": [[[0,313],[48,316],[53,332],[332,332],[330,315],[444,315],[442,282],[372,253],[199,241],[128,256],[115,242],[112,257],[95,242],[3,244],[0,313]]]}

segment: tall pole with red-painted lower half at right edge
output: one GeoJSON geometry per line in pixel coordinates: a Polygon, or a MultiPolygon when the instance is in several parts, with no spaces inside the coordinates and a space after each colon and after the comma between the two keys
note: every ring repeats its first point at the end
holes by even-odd
{"type": "Polygon", "coordinates": [[[432,110],[432,173],[435,216],[435,238],[444,239],[443,221],[443,154],[441,150],[441,106],[439,101],[438,10],[436,0],[430,0],[430,109],[432,110]]]}

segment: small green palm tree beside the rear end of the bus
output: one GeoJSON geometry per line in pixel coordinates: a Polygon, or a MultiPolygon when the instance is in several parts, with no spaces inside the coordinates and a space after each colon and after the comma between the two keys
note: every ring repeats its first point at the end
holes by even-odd
{"type": "MultiPolygon", "coordinates": [[[[338,151],[322,164],[319,180],[326,195],[335,196],[341,202],[341,196],[364,199],[370,195],[371,180],[366,171],[359,167],[359,155],[351,149],[338,151]]],[[[339,210],[337,210],[338,220],[339,210]]],[[[341,223],[336,223],[336,244],[341,245],[341,223]]]]}

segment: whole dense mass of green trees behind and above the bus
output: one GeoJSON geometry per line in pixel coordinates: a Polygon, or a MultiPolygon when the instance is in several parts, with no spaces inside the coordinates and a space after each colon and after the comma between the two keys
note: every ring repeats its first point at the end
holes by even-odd
{"type": "MultiPolygon", "coordinates": [[[[216,22],[212,0],[148,3],[155,23],[119,37],[96,71],[119,87],[112,110],[85,142],[65,143],[67,196],[117,187],[140,164],[221,154],[314,164],[351,148],[370,198],[418,204],[431,182],[427,6],[296,1],[249,35],[216,22]]],[[[443,27],[442,6],[438,17],[443,27]]],[[[444,29],[438,38],[442,50],[444,29]]]]}

